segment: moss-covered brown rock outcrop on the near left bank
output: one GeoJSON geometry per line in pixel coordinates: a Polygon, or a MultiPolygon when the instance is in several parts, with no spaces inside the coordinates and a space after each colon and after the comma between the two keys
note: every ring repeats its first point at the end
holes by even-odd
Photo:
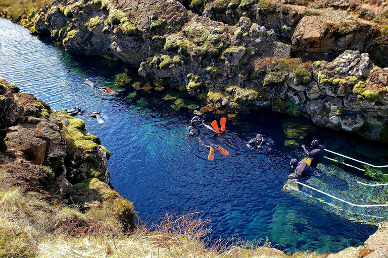
{"type": "Polygon", "coordinates": [[[59,195],[82,210],[109,208],[122,226],[134,227],[132,203],[108,185],[110,152],[81,119],[5,80],[0,80],[0,110],[0,187],[59,195]]]}

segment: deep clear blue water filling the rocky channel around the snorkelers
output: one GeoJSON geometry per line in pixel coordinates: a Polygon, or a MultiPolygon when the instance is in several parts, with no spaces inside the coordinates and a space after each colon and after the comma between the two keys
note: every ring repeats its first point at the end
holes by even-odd
{"type": "MultiPolygon", "coordinates": [[[[187,109],[174,111],[171,103],[154,99],[157,94],[143,93],[148,104],[139,105],[125,98],[128,92],[102,97],[101,92],[82,85],[90,78],[100,86],[115,88],[113,78],[123,68],[122,63],[104,58],[69,56],[50,38],[31,36],[25,28],[0,19],[0,79],[15,83],[54,109],[81,106],[104,111],[109,118],[103,124],[94,118],[80,118],[111,151],[111,183],[134,202],[143,221],[152,222],[165,212],[196,209],[210,218],[209,237],[213,240],[268,237],[282,250],[319,252],[358,246],[377,229],[282,190],[289,173],[288,160],[300,151],[283,146],[287,138],[282,126],[289,121],[306,124],[309,130],[300,143],[309,144],[318,136],[328,149],[375,164],[387,163],[386,145],[264,110],[228,119],[225,136],[214,141],[230,155],[223,157],[216,151],[215,159],[208,161],[208,150],[198,139],[185,136],[192,116],[187,109]],[[244,141],[258,132],[278,143],[271,152],[247,150],[244,141]]],[[[136,70],[132,73],[135,79],[136,70]]],[[[221,116],[210,114],[209,120],[221,116]]]]}

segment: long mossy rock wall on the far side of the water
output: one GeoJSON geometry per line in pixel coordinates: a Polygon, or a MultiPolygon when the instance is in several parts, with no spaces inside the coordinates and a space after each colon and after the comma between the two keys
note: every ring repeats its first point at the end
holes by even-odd
{"type": "Polygon", "coordinates": [[[388,142],[386,11],[358,1],[73,0],[22,23],[211,107],[272,108],[388,142]]]}

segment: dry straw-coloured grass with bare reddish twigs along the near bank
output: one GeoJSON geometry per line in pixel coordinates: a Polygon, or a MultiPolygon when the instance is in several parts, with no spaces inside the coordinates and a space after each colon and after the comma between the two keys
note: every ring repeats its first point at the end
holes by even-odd
{"type": "MultiPolygon", "coordinates": [[[[77,207],[52,206],[36,193],[0,189],[0,257],[286,257],[268,241],[238,239],[210,244],[208,221],[198,212],[166,214],[128,233],[93,220],[77,207]],[[98,228],[98,230],[96,230],[98,228]],[[208,247],[211,246],[211,247],[208,247]]],[[[293,258],[323,258],[296,252],[293,258]]]]}

